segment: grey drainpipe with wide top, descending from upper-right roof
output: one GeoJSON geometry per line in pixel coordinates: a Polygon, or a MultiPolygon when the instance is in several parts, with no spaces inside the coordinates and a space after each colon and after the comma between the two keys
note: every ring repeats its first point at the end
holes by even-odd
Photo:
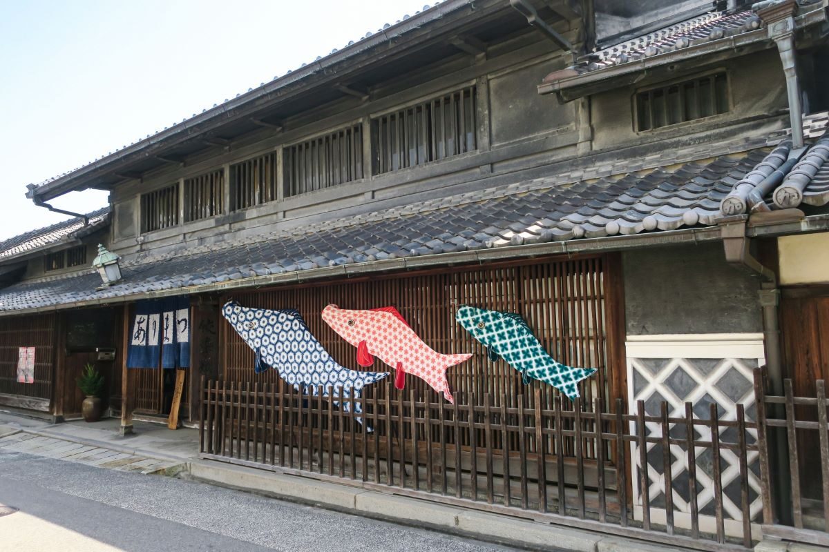
{"type": "Polygon", "coordinates": [[[768,27],[768,37],[777,44],[780,52],[786,75],[788,114],[792,121],[792,147],[797,149],[803,146],[803,110],[794,46],[794,17],[799,9],[797,0],[765,0],[754,4],[752,9],[768,27]]]}

